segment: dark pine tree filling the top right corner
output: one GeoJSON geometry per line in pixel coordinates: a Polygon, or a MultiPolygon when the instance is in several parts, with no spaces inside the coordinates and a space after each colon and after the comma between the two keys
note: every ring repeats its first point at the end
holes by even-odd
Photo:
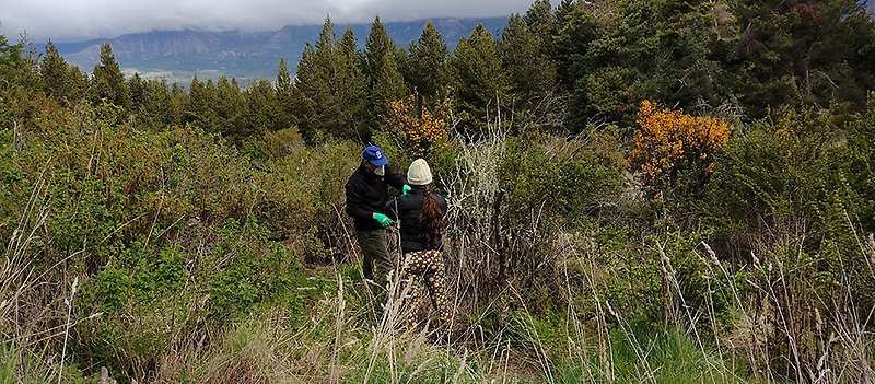
{"type": "Polygon", "coordinates": [[[738,0],[728,13],[735,35],[714,53],[750,117],[780,104],[865,109],[866,90],[875,89],[875,23],[861,2],[738,0]]]}

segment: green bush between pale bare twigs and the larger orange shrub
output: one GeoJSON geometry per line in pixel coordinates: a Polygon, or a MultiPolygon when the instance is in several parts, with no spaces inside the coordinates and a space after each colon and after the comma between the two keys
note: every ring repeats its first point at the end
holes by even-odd
{"type": "Polygon", "coordinates": [[[494,212],[501,233],[493,246],[504,257],[508,278],[534,300],[529,304],[536,312],[549,307],[549,298],[561,290],[552,268],[562,257],[553,249],[555,235],[596,222],[616,209],[623,165],[620,156],[603,147],[611,140],[597,135],[575,140],[508,138],[498,170],[504,197],[494,212]]]}

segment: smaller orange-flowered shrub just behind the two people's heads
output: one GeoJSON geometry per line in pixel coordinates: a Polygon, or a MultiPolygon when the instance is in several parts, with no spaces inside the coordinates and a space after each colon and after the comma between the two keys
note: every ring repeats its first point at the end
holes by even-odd
{"type": "Polygon", "coordinates": [[[443,149],[450,140],[446,117],[451,110],[450,98],[438,103],[430,110],[419,103],[419,94],[390,103],[393,124],[404,132],[408,151],[412,158],[425,156],[433,149],[443,149]]]}

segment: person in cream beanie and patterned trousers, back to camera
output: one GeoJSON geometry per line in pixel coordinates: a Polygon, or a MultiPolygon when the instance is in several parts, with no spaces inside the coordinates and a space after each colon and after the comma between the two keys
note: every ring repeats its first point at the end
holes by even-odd
{"type": "Polygon", "coordinates": [[[401,221],[404,264],[400,281],[411,283],[407,326],[410,329],[417,326],[417,306],[424,289],[429,291],[441,323],[450,324],[452,314],[444,291],[446,278],[441,238],[446,200],[432,191],[431,168],[423,159],[410,164],[407,182],[413,186],[412,189],[386,202],[389,218],[401,221]]]}

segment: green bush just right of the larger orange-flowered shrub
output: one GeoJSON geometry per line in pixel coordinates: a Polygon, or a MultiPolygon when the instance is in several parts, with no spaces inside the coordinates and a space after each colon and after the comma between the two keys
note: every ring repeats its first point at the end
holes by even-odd
{"type": "Polygon", "coordinates": [[[730,141],[697,217],[718,229],[736,259],[760,243],[805,234],[805,249],[848,233],[855,212],[841,163],[847,147],[829,115],[780,110],[730,141]]]}

